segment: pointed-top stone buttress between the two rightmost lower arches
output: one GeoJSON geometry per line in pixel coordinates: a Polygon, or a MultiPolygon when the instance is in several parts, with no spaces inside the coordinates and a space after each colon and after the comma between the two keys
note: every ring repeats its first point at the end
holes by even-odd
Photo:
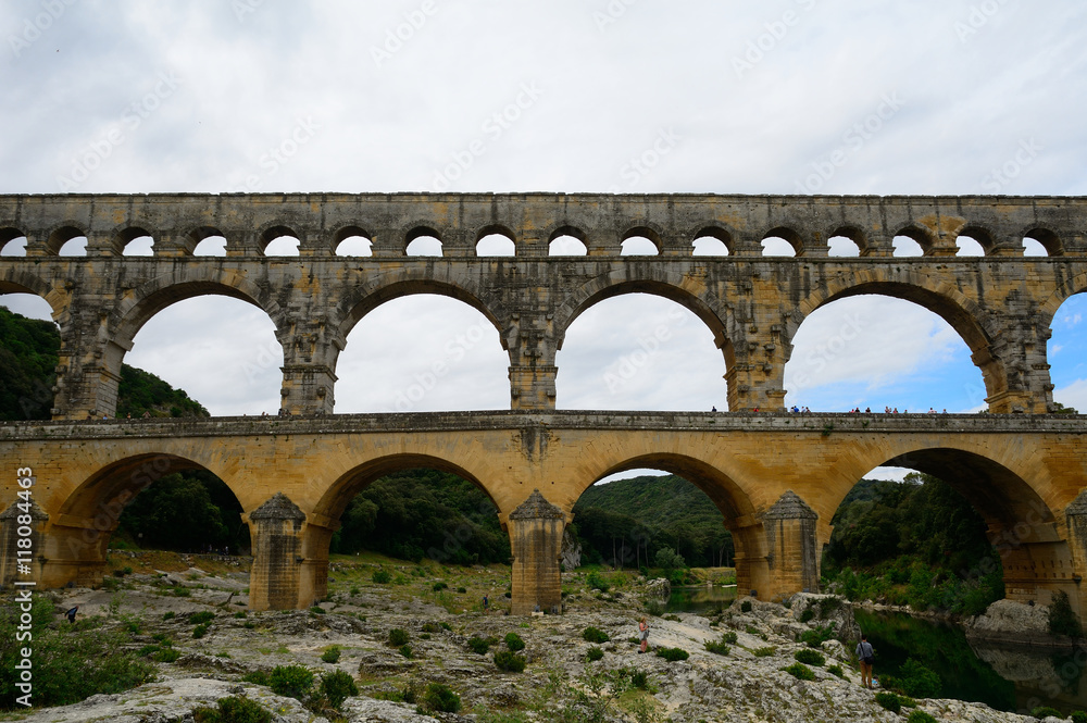
{"type": "Polygon", "coordinates": [[[815,521],[819,515],[791,489],[762,516],[766,532],[766,566],[771,589],[762,599],[819,591],[815,521]]]}

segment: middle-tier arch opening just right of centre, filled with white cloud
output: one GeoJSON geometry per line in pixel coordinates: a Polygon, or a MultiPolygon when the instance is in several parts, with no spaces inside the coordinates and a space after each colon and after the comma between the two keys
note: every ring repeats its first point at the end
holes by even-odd
{"type": "Polygon", "coordinates": [[[727,409],[724,326],[675,287],[617,285],[586,300],[559,339],[559,409],[727,409]]]}

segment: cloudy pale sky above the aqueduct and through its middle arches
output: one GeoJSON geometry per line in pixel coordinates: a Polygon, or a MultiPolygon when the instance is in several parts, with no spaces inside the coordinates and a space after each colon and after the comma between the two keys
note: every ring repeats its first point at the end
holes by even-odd
{"type": "MultiPolygon", "coordinates": [[[[1075,0],[8,0],[0,40],[0,192],[1087,195],[1075,0]]],[[[1085,313],[1049,347],[1080,409],[1085,313]]],[[[962,339],[905,301],[829,304],[795,344],[789,404],[984,403],[962,339]]],[[[277,408],[272,324],[240,301],[171,307],[126,361],[213,414],[277,408]]],[[[508,408],[508,363],[468,307],[399,299],[351,334],[337,411],[508,408]]],[[[590,309],[558,364],[563,409],[726,407],[709,331],[655,297],[590,309]]]]}

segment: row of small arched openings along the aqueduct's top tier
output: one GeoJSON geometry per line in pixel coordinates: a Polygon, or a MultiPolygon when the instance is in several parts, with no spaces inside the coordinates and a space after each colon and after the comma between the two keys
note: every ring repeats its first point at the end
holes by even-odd
{"type": "MultiPolygon", "coordinates": [[[[405,255],[441,255],[442,233],[436,224],[416,224],[402,235],[405,255]]],[[[736,234],[721,224],[711,223],[689,234],[691,255],[727,257],[735,252],[736,234]]],[[[126,225],[116,229],[107,242],[114,252],[124,255],[154,255],[154,239],[161,237],[151,226],[126,225]]],[[[657,255],[664,249],[663,234],[649,225],[635,225],[622,236],[624,255],[657,255]]],[[[297,255],[301,236],[289,225],[271,223],[260,229],[261,253],[270,257],[297,255]]],[[[560,225],[548,237],[549,255],[585,255],[588,253],[586,233],[572,225],[560,225]]],[[[1060,235],[1050,228],[1033,227],[1022,233],[1024,255],[1061,255],[1064,252],[1060,235]]],[[[763,255],[804,255],[803,235],[788,226],[777,226],[762,235],[763,255]]],[[[341,257],[368,257],[373,234],[360,225],[347,225],[328,237],[328,250],[341,257]]],[[[994,248],[994,234],[982,226],[964,227],[957,244],[961,255],[987,255],[994,248]]],[[[0,254],[25,254],[26,234],[22,229],[0,227],[0,254]]],[[[852,257],[869,248],[865,234],[853,226],[835,228],[827,235],[832,257],[852,257]]],[[[895,234],[895,255],[923,255],[934,246],[927,228],[909,225],[895,234]]],[[[46,240],[46,252],[58,255],[85,255],[87,232],[76,224],[63,224],[52,229],[46,240]]],[[[501,225],[487,225],[475,234],[477,257],[516,255],[515,234],[501,225]]],[[[185,234],[180,251],[188,255],[223,255],[226,238],[217,228],[199,226],[185,234]]]]}

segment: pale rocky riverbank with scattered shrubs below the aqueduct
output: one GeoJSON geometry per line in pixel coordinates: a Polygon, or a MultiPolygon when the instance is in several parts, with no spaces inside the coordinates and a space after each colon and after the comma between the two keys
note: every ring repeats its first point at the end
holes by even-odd
{"type": "MultiPolygon", "coordinates": [[[[828,596],[798,596],[790,608],[744,598],[711,616],[651,616],[651,651],[639,655],[644,581],[614,575],[611,588],[599,593],[586,589],[578,573],[565,573],[565,614],[521,619],[503,614],[503,569],[386,565],[389,584],[372,582],[375,569],[340,563],[329,598],[309,611],[246,613],[237,604],[245,601],[245,575],[228,568],[214,575],[190,569],[168,581],[155,574],[129,575],[113,591],[64,590],[55,598],[58,609],[78,602],[82,613],[102,615],[104,627],[138,629],[130,636],[134,649],[168,639],[178,655],[173,662],[157,663],[153,683],[34,711],[25,720],[184,721],[191,719],[192,710],[227,696],[257,701],[272,711],[274,721],[321,720],[297,700],[241,680],[289,664],[318,674],[350,674],[360,695],[342,706],[349,721],[890,722],[909,713],[885,710],[873,691],[859,684],[850,656],[855,623],[850,627],[851,608],[837,598],[824,602],[828,596]],[[178,588],[188,593],[179,595],[178,588]],[[478,602],[484,593],[496,603],[489,611],[478,602]],[[200,612],[214,616],[202,637],[193,637],[197,625],[190,615],[200,612]],[[825,629],[830,621],[850,643],[822,643],[826,661],[811,665],[810,681],[783,671],[805,648],[799,638],[825,629]],[[607,641],[586,640],[590,627],[607,641]],[[393,628],[407,634],[407,649],[389,644],[393,628]],[[501,640],[510,633],[525,644],[520,655],[526,666],[520,673],[503,672],[495,662],[495,651],[505,649],[501,640]],[[729,640],[735,635],[735,641],[726,644],[725,655],[705,648],[707,641],[720,643],[726,635],[729,640]],[[496,643],[480,655],[470,647],[472,638],[496,643]],[[670,662],[653,655],[661,648],[677,648],[688,657],[670,662]],[[339,655],[328,662],[334,649],[339,655]],[[598,659],[590,662],[594,649],[600,652],[591,653],[598,659]],[[460,712],[430,714],[418,700],[398,702],[432,683],[460,697],[460,712]]],[[[953,700],[921,700],[917,710],[940,721],[1034,720],[953,700]]]]}

